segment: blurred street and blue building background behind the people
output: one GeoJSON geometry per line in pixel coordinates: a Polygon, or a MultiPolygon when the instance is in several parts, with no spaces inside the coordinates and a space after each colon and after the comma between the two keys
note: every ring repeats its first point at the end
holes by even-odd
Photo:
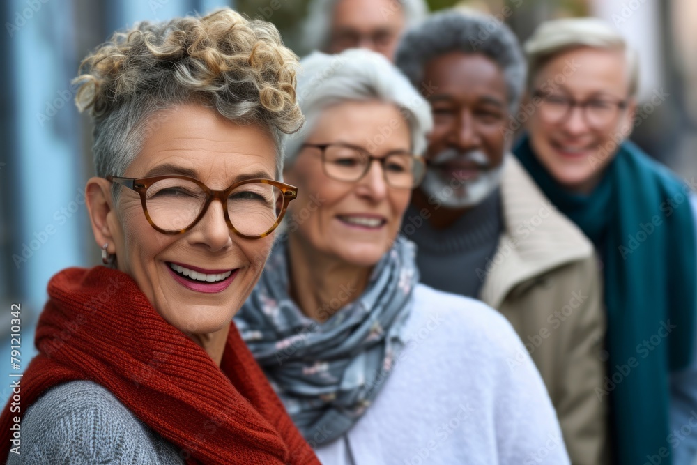
{"type": "MultiPolygon", "coordinates": [[[[595,15],[614,24],[641,57],[645,120],[632,138],[691,180],[697,176],[697,2],[694,0],[430,0],[505,20],[521,40],[554,17],[595,15]],[[667,93],[659,105],[654,92],[667,93]]],[[[84,205],[92,176],[91,128],[70,80],[80,59],[116,29],[232,6],[274,22],[302,55],[307,0],[9,0],[0,6],[0,376],[10,371],[10,303],[22,304],[22,367],[49,278],[100,263],[84,205]]],[[[8,383],[0,383],[7,386],[8,383]]],[[[9,389],[0,388],[5,402],[9,389]]]]}

